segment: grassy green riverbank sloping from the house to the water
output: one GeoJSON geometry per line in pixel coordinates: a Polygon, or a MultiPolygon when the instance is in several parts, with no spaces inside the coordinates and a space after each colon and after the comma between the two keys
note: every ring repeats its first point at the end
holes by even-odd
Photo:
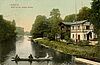
{"type": "Polygon", "coordinates": [[[95,52],[95,46],[79,46],[74,44],[67,45],[65,42],[49,41],[48,39],[34,39],[34,41],[44,45],[45,47],[52,48],[65,54],[75,55],[77,57],[100,62],[100,59],[95,52]]]}

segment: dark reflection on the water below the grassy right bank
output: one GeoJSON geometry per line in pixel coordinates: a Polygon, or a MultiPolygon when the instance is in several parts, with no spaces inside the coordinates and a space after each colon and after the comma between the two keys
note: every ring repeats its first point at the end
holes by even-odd
{"type": "MultiPolygon", "coordinates": [[[[32,48],[35,50],[35,56],[45,57],[47,54],[49,54],[50,57],[53,57],[51,65],[73,64],[71,55],[59,53],[53,49],[48,49],[35,43],[32,43],[32,48]]],[[[46,65],[46,63],[44,65],[46,65]]]]}

